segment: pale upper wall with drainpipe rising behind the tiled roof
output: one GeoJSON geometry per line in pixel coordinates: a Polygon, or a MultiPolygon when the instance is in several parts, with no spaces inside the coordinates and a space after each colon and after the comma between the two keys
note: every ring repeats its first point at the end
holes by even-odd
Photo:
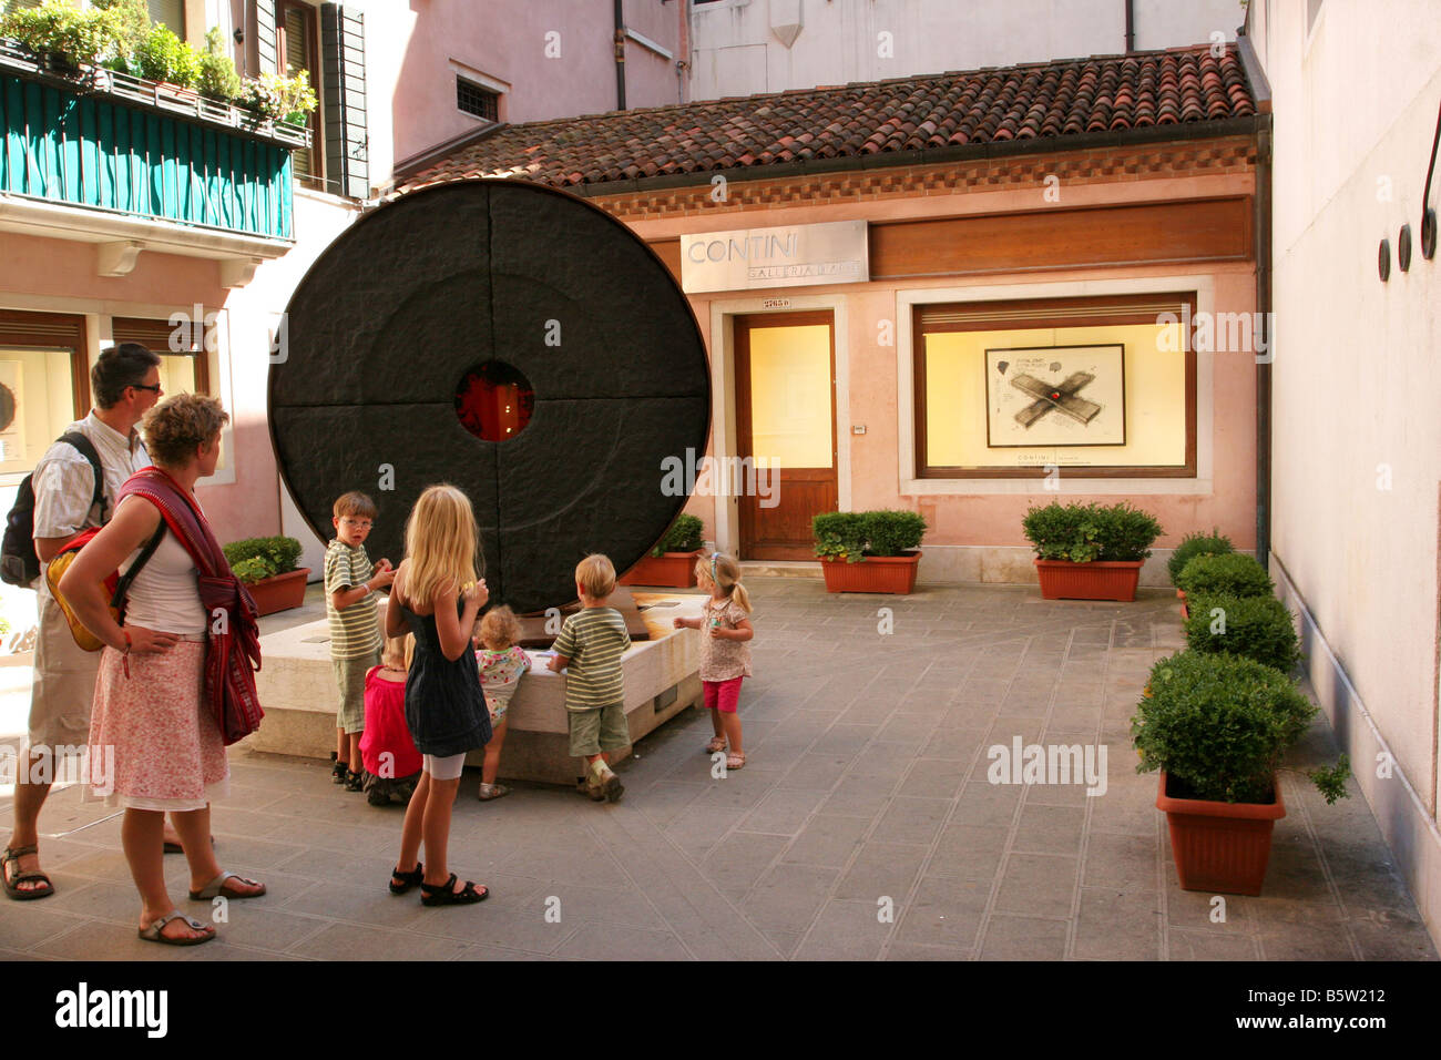
{"type": "MultiPolygon", "coordinates": [[[[1236,36],[1236,0],[1133,0],[1138,50],[1236,36]]],[[[693,100],[1125,50],[1124,0],[718,0],[692,14],[693,100]],[[801,29],[787,48],[777,32],[801,29]],[[772,26],[777,27],[772,32],[772,26]],[[892,56],[883,50],[889,33],[892,56]]]]}

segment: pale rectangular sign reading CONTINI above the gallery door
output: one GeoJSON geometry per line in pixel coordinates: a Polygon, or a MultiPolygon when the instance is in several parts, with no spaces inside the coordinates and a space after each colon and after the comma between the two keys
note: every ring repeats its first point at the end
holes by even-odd
{"type": "Polygon", "coordinates": [[[680,237],[680,287],[687,294],[867,280],[865,221],[680,237]]]}

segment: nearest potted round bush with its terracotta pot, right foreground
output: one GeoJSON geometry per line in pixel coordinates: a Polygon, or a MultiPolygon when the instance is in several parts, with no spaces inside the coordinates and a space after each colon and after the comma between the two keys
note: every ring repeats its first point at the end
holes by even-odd
{"type": "MultiPolygon", "coordinates": [[[[1277,669],[1235,655],[1180,652],[1151,669],[1131,718],[1137,772],[1160,770],[1182,890],[1259,894],[1271,832],[1285,816],[1277,770],[1316,707],[1277,669]]],[[[1346,756],[1307,773],[1326,796],[1346,796],[1346,756]]]]}

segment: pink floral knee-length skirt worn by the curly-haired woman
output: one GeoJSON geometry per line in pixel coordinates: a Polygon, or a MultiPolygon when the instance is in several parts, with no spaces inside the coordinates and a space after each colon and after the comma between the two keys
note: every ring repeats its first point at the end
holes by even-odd
{"type": "Polygon", "coordinates": [[[169,652],[125,656],[101,652],[91,714],[86,783],[111,806],[203,809],[226,793],[225,738],[202,708],[205,642],[180,640],[169,652]]]}

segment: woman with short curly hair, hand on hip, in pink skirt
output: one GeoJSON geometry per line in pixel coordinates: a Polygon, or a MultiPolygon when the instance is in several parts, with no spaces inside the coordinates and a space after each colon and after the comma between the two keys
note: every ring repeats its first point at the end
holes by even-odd
{"type": "Polygon", "coordinates": [[[228,420],[219,401],[195,394],[156,405],[141,423],[156,466],[130,477],[115,518],[61,578],[75,614],[105,642],[91,718],[91,792],[125,811],[121,845],[140,890],[140,937],[171,946],[209,942],[215,927],[182,916],[170,900],[161,861],[166,812],[190,864],[192,900],[265,893],[264,884],[222,871],[208,841],[210,800],[225,795],[229,764],[215,704],[205,698],[210,613],[200,600],[196,549],[216,574],[229,575],[229,565],[195,485],[215,473],[228,420]],[[101,581],[128,570],[153,541],[117,622],[101,581]]]}

